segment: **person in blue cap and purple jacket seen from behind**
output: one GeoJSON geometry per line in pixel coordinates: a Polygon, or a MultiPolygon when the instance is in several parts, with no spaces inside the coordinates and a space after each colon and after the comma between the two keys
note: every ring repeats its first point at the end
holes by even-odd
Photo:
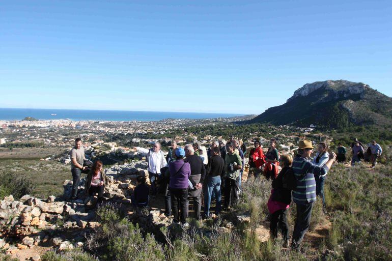
{"type": "Polygon", "coordinates": [[[185,151],[182,148],[175,150],[176,161],[169,163],[172,212],[174,222],[179,222],[179,207],[181,209],[181,223],[186,224],[188,216],[188,179],[190,176],[190,165],[184,162],[185,151]]]}

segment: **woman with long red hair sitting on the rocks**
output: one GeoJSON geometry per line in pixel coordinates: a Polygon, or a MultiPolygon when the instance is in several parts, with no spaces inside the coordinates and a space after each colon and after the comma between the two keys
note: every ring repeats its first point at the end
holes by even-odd
{"type": "Polygon", "coordinates": [[[103,199],[103,189],[107,186],[108,181],[105,171],[102,169],[103,163],[98,160],[94,162],[93,167],[87,175],[86,191],[90,196],[98,194],[98,202],[103,199]]]}

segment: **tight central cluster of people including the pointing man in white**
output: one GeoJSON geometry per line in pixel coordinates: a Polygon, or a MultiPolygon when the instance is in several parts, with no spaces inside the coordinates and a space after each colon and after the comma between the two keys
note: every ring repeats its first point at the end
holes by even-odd
{"type": "Polygon", "coordinates": [[[135,147],[146,155],[152,197],[160,192],[165,198],[165,215],[173,214],[174,222],[187,224],[189,201],[193,202],[196,219],[211,216],[210,206],[215,198],[215,214],[222,206],[222,191],[225,195],[223,208],[229,209],[237,202],[240,180],[245,166],[245,153],[240,140],[230,138],[212,142],[207,150],[200,142],[177,146],[176,141],[164,156],[159,142],[152,149],[135,147]]]}

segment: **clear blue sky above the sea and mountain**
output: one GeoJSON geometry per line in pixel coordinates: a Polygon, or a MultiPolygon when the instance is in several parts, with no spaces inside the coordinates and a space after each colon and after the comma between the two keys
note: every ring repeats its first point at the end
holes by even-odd
{"type": "Polygon", "coordinates": [[[392,1],[2,1],[0,107],[261,113],[305,83],[392,96],[392,1]]]}

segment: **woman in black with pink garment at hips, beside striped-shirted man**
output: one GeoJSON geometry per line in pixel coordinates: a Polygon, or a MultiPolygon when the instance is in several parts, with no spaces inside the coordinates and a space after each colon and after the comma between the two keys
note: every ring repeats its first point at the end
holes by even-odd
{"type": "Polygon", "coordinates": [[[293,157],[290,154],[284,154],[280,160],[282,170],[272,181],[271,196],[267,206],[270,216],[270,235],[272,239],[277,238],[277,230],[281,230],[282,239],[289,246],[289,224],[287,223],[287,209],[291,202],[291,190],[284,188],[283,179],[286,175],[294,175],[291,168],[293,157]]]}

